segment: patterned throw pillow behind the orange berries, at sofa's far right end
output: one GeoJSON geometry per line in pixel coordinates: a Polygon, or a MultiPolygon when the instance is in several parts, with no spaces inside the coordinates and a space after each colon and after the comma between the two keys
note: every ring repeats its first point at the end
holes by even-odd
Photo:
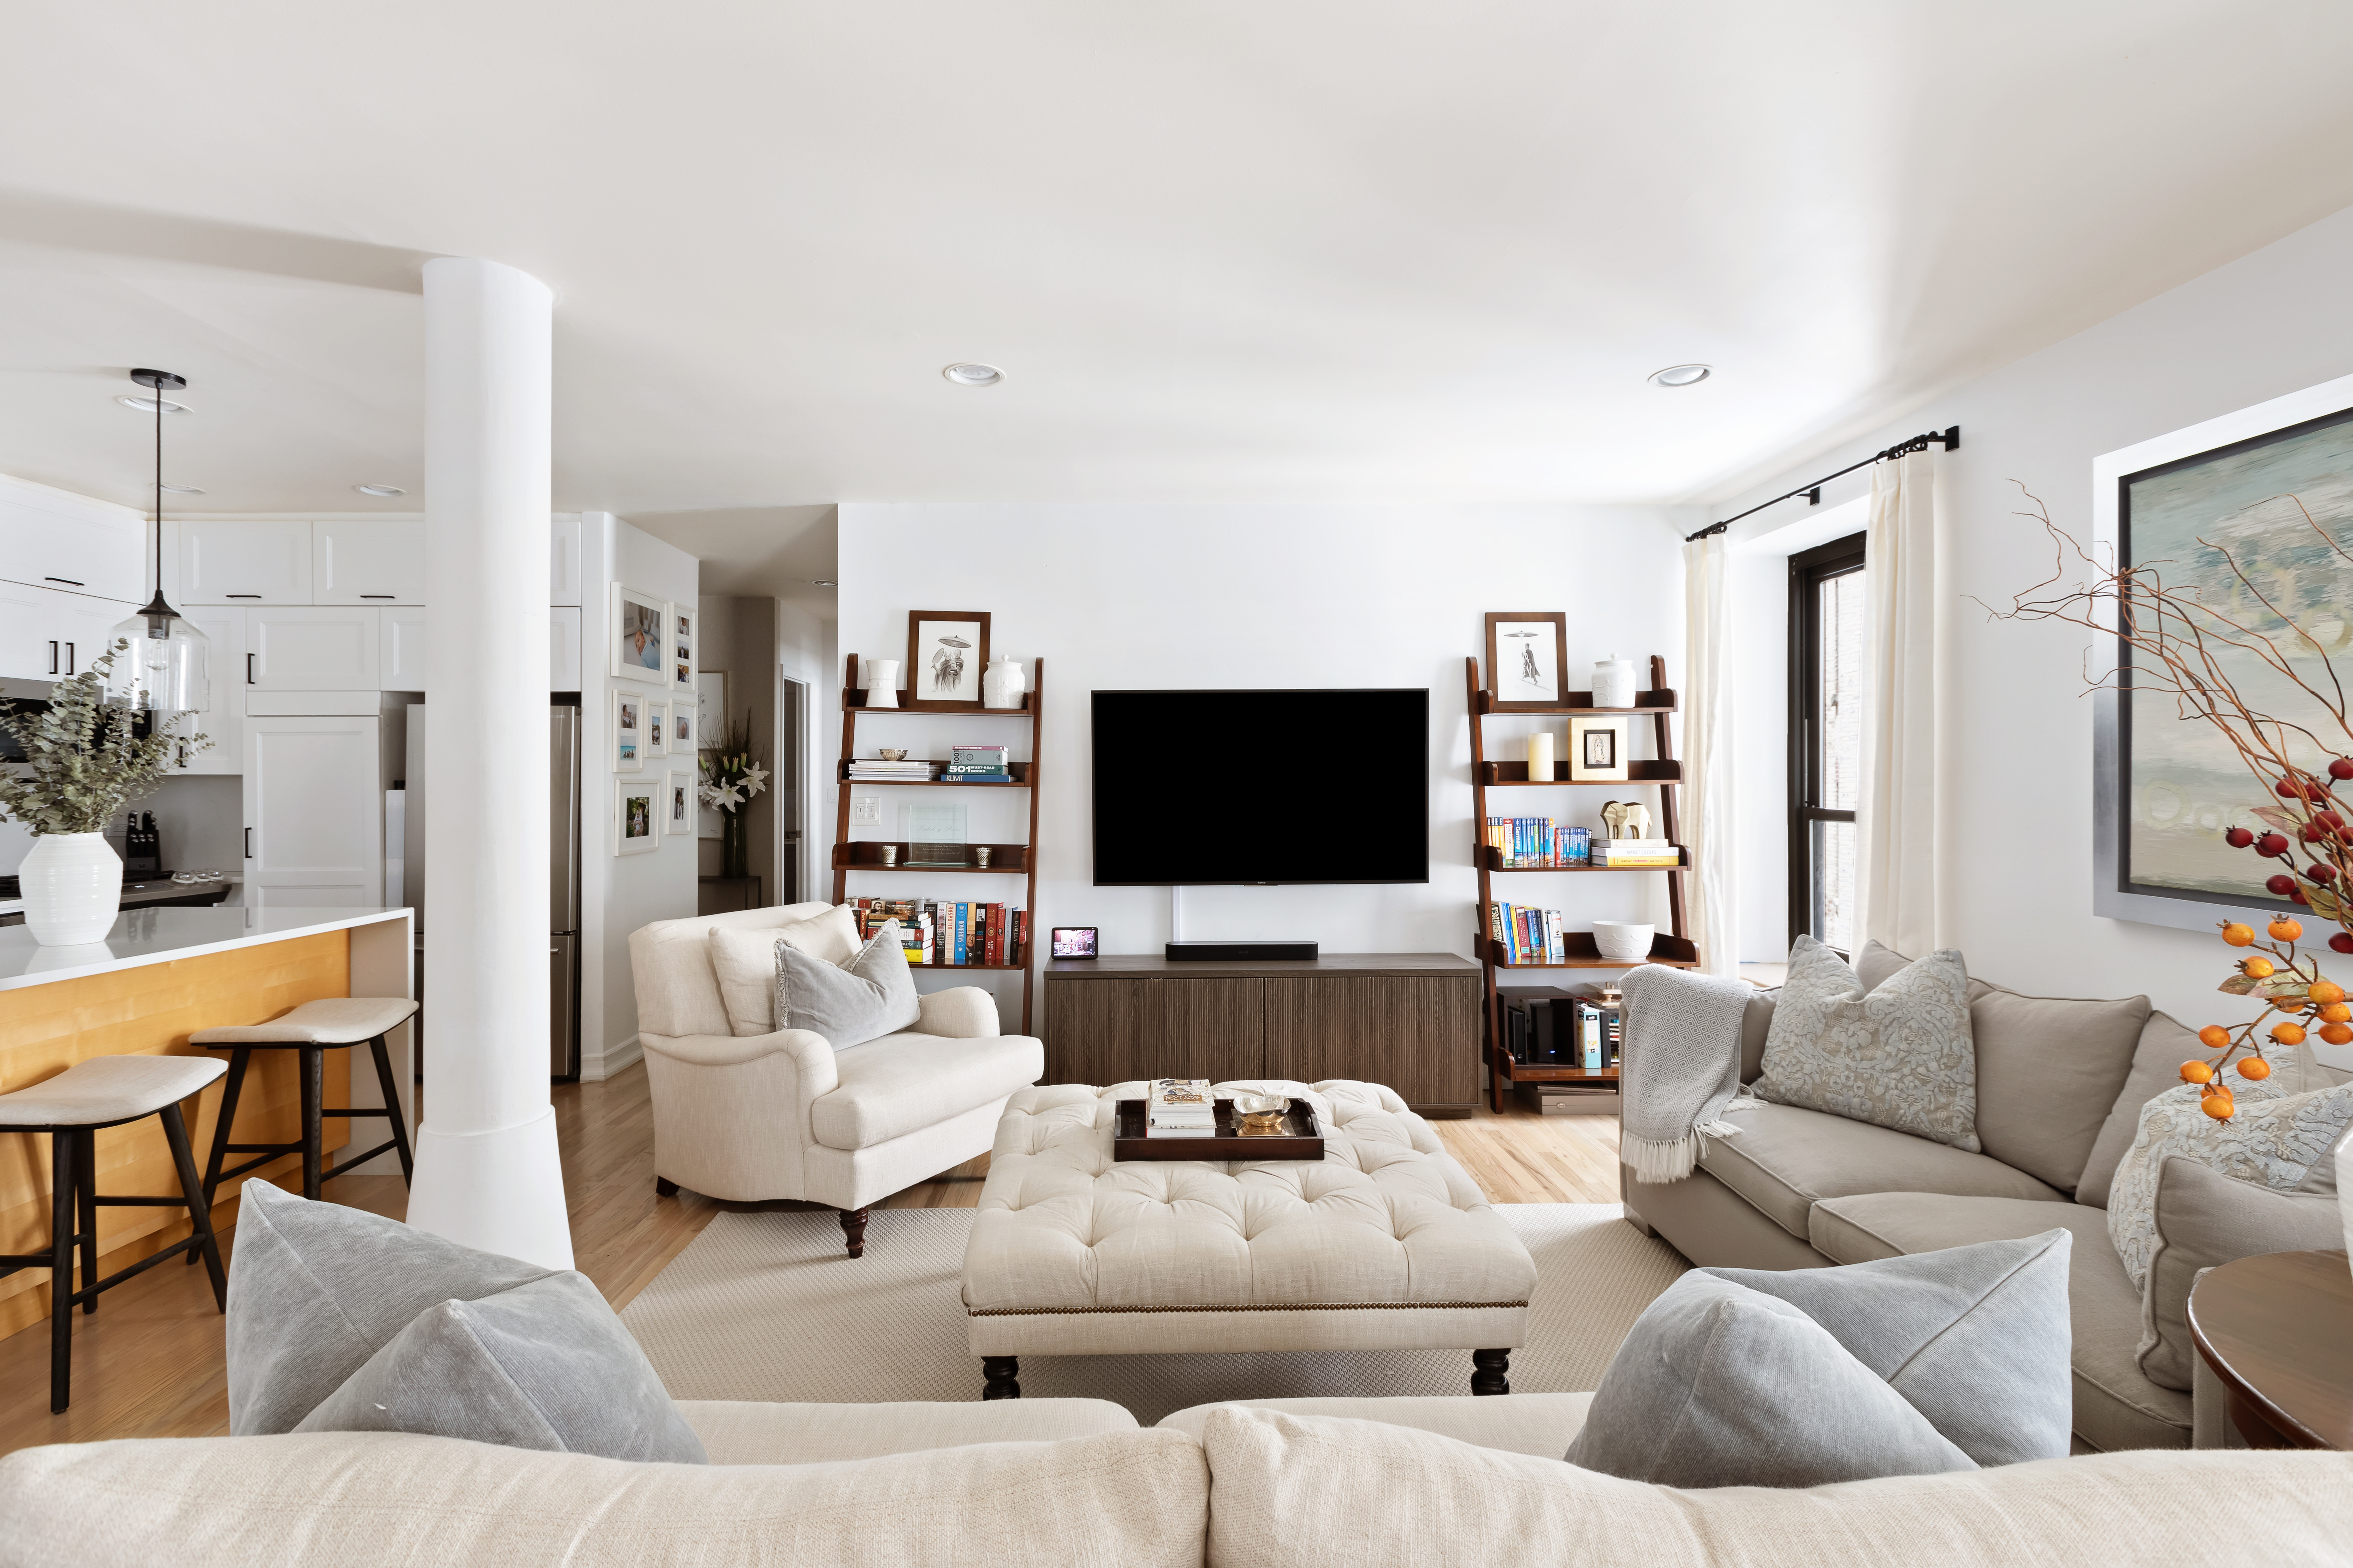
{"type": "Polygon", "coordinates": [[[2231,1093],[2238,1114],[2228,1121],[2198,1110],[2195,1084],[2167,1088],[2141,1107],[2141,1128],[2108,1190],[2108,1239],[2134,1291],[2158,1251],[2158,1171],[2167,1159],[2195,1159],[2231,1180],[2294,1192],[2353,1121],[2353,1084],[2282,1095],[2233,1074],[2231,1093]]]}

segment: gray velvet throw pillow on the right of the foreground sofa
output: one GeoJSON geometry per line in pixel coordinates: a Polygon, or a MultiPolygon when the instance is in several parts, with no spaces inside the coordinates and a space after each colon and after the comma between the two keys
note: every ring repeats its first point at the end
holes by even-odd
{"type": "Polygon", "coordinates": [[[1692,1269],[1565,1455],[1659,1486],[1824,1486],[2068,1453],[2066,1229],[1842,1269],[1692,1269]]]}

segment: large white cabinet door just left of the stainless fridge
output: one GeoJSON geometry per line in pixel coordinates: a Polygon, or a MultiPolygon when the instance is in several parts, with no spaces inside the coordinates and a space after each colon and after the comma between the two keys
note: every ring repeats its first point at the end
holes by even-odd
{"type": "Polygon", "coordinates": [[[245,905],[384,903],[381,719],[245,719],[245,905]]]}

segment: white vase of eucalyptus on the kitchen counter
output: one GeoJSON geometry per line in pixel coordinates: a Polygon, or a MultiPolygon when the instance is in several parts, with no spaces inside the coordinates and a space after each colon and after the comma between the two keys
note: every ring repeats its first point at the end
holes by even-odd
{"type": "Polygon", "coordinates": [[[16,879],[24,924],[42,947],[106,936],[122,907],[122,858],[106,842],[106,823],[153,795],[181,748],[193,755],[212,745],[205,736],[169,733],[176,715],[162,715],[153,733],[136,733],[139,715],[108,691],[115,658],[127,649],[115,639],[87,670],[49,686],[47,712],[0,705],[0,729],[26,755],[0,769],[0,816],[35,835],[16,879]]]}

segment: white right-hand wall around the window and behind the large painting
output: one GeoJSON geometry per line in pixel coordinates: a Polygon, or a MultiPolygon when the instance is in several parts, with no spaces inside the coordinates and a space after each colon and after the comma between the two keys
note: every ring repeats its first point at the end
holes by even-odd
{"type": "MultiPolygon", "coordinates": [[[[2035,266],[2021,247],[2019,266],[2035,266]]],[[[2078,538],[2092,527],[2092,458],[2181,425],[2353,371],[2353,212],[2341,212],[2226,268],[2009,364],[1847,447],[1793,461],[1718,517],[1791,489],[1918,430],[1958,423],[1962,447],[1939,456],[1941,520],[1953,548],[1944,585],[1953,618],[1951,691],[1939,788],[1951,809],[1941,849],[1946,929],[1969,971],[2042,994],[2148,992],[2184,1023],[2233,1020],[2214,994],[2224,947],[2092,914],[2089,637],[2064,625],[1988,621],[1972,599],[2007,607],[2049,576],[2042,529],[2014,517],[2017,484],[2049,503],[2078,538]]],[[[1868,491],[1840,480],[1824,508],[1868,491]]],[[[1805,512],[1784,503],[1737,524],[1734,543],[1805,512]]],[[[1786,552],[1748,559],[1739,588],[1744,639],[1741,952],[1786,952],[1781,877],[1786,752],[1786,552]],[[1765,715],[1774,715],[1767,726],[1765,715]],[[1758,733],[1769,729],[1769,733],[1758,733]],[[1762,755],[1760,755],[1762,752],[1762,755]],[[1769,804],[1769,809],[1767,809],[1769,804]]],[[[2254,783],[2249,780],[2249,795],[2254,783]]],[[[2217,910],[2217,919],[2221,910],[2217,910]]],[[[2353,976],[2353,961],[2332,959],[2353,976]]],[[[2341,978],[2344,978],[2341,976],[2341,978]]]]}

